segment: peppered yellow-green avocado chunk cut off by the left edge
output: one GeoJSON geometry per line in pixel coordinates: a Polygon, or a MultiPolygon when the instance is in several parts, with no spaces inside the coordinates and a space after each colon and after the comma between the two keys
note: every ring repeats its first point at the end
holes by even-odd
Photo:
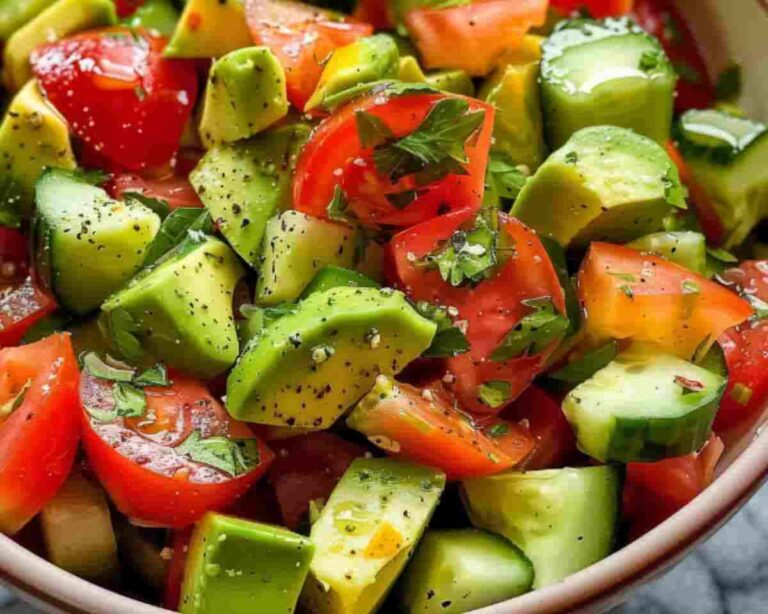
{"type": "Polygon", "coordinates": [[[0,224],[17,226],[29,218],[35,184],[46,167],[77,166],[69,128],[30,81],[16,94],[0,125],[0,170],[5,188],[0,195],[0,224]]]}

